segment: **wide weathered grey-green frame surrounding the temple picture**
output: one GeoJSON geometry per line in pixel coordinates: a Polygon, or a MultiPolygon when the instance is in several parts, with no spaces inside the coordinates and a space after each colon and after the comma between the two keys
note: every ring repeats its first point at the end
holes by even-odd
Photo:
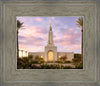
{"type": "Polygon", "coordinates": [[[98,1],[2,1],[1,5],[1,85],[100,85],[98,1]],[[84,16],[83,69],[17,69],[16,16],[84,16]]]}

